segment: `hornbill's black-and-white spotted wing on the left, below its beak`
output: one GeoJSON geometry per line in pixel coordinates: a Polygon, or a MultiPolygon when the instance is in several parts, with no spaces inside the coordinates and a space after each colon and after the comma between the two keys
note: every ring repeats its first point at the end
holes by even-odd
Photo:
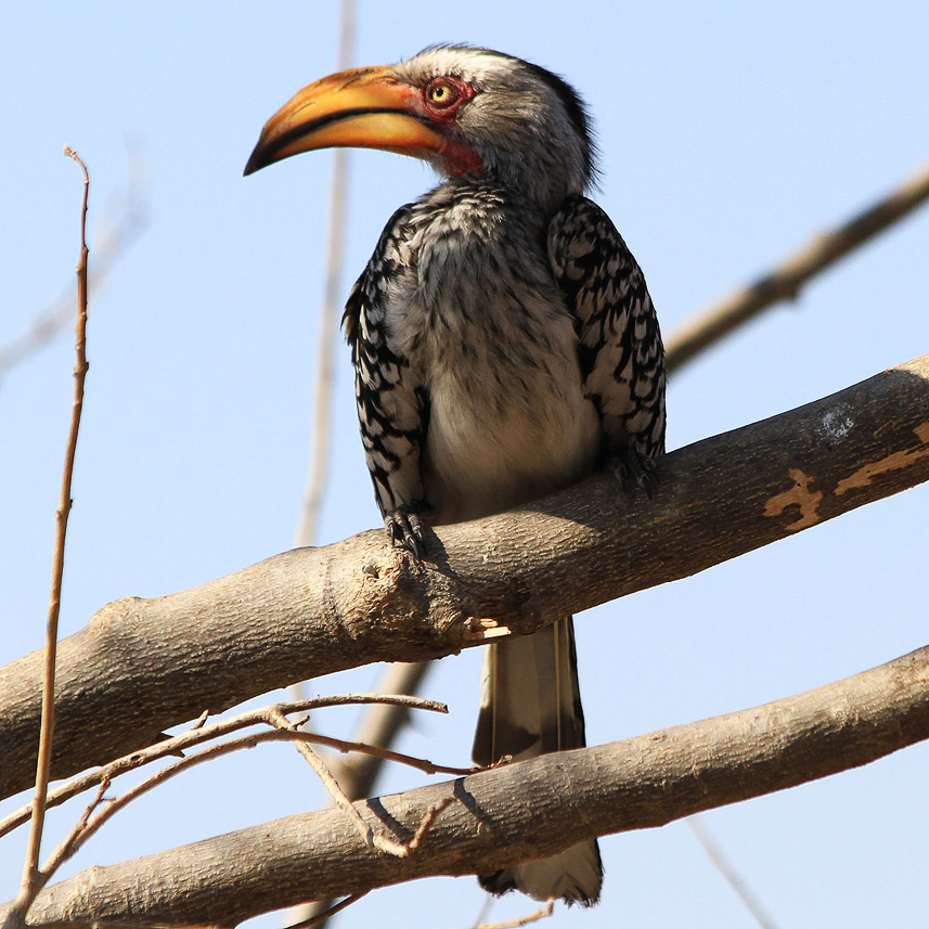
{"type": "Polygon", "coordinates": [[[377,505],[391,539],[415,551],[415,542],[407,538],[407,517],[425,507],[420,456],[429,402],[422,378],[391,346],[387,326],[390,283],[403,267],[400,249],[408,216],[409,208],[402,207],[385,227],[351,291],[343,325],[351,346],[361,440],[377,505]]]}

